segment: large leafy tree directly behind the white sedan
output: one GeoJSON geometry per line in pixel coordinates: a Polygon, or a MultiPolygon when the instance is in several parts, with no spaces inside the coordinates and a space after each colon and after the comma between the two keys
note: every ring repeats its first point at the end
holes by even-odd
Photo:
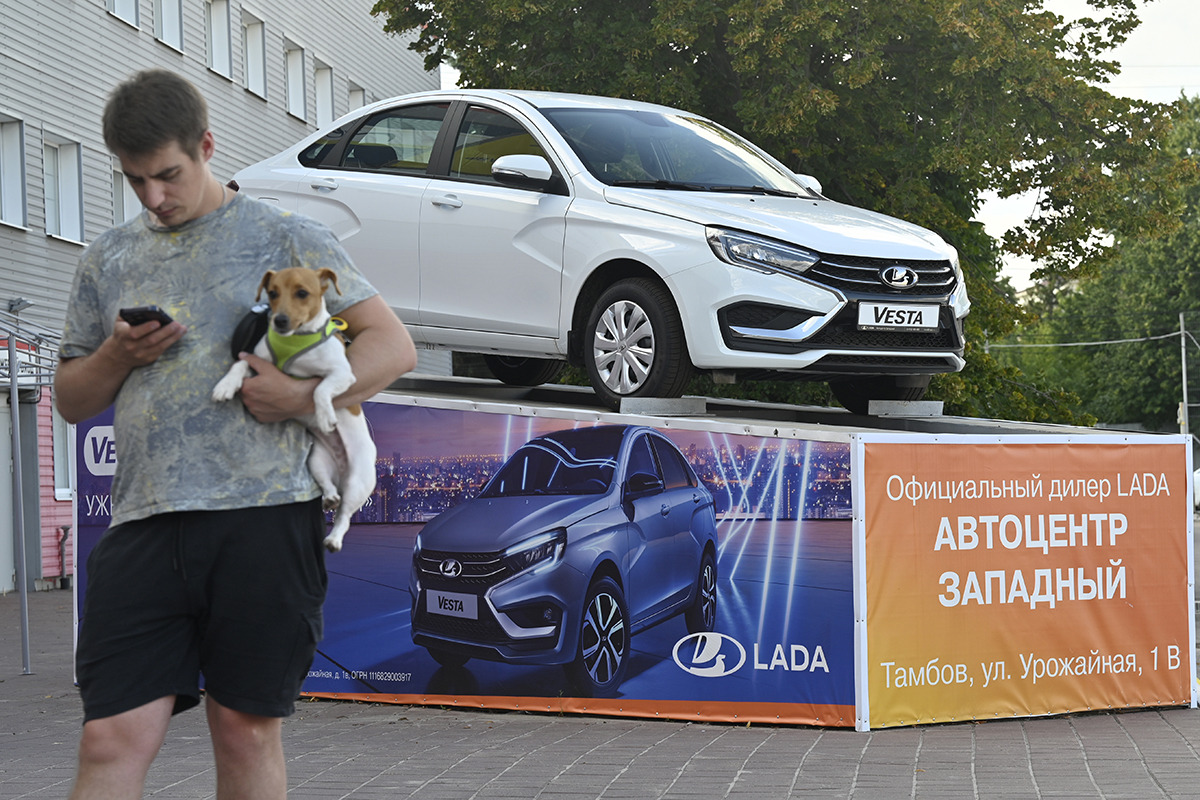
{"type": "MultiPolygon", "coordinates": [[[[1097,18],[1069,23],[1040,0],[379,0],[374,13],[419,31],[426,66],[452,58],[464,85],[685,108],[832,199],[938,231],[962,257],[968,336],[995,339],[1022,317],[996,282],[997,242],[972,222],[983,192],[1039,192],[1002,246],[1051,272],[1086,272],[1111,231],[1177,217],[1188,173],[1158,148],[1160,107],[1088,84],[1114,73],[1102,56],[1136,25],[1135,0],[1090,2],[1097,18]]],[[[966,377],[992,375],[971,353],[966,377]]],[[[1043,395],[1010,378],[1027,402],[978,396],[990,381],[938,379],[935,393],[952,411],[1030,419],[1043,395]]],[[[1062,399],[1045,408],[1072,420],[1062,399]]]]}

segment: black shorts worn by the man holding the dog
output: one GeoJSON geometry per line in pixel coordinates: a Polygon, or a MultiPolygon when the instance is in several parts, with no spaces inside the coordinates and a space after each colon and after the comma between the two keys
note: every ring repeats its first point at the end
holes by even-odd
{"type": "Polygon", "coordinates": [[[110,528],[88,558],[76,675],[84,722],[204,691],[238,711],[295,710],[323,633],[320,499],[185,511],[110,528]]]}

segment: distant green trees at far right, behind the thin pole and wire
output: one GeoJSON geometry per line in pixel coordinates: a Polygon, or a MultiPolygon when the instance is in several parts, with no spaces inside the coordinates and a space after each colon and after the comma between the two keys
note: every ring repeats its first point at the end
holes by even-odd
{"type": "MultiPolygon", "coordinates": [[[[1200,97],[1181,98],[1166,138],[1168,154],[1200,162],[1200,97]]],[[[1123,237],[1103,275],[1060,290],[1024,343],[1150,338],[1186,326],[1200,338],[1200,186],[1186,193],[1181,225],[1158,237],[1123,237]],[[1195,330],[1192,330],[1195,329],[1195,330]]],[[[1200,345],[1188,342],[1189,383],[1200,375],[1200,345]]],[[[1171,428],[1182,398],[1177,337],[1084,348],[1003,350],[1003,359],[1073,389],[1102,422],[1171,428]]],[[[1195,389],[1189,401],[1200,401],[1195,389]]]]}

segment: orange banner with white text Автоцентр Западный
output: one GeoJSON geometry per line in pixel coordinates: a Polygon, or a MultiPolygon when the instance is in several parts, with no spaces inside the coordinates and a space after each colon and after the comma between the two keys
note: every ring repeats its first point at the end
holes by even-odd
{"type": "Polygon", "coordinates": [[[858,727],[1193,703],[1189,461],[1183,437],[858,437],[858,727]]]}

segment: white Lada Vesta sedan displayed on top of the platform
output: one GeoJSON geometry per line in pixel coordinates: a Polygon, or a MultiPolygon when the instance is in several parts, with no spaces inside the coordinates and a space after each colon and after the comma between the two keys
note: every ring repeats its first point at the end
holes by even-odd
{"type": "Polygon", "coordinates": [[[719,381],[827,380],[865,413],[961,369],[958,254],[834,203],[695,114],[439,91],[360,108],[240,172],[326,223],[418,347],[510,384],[583,366],[612,408],[719,381]]]}

